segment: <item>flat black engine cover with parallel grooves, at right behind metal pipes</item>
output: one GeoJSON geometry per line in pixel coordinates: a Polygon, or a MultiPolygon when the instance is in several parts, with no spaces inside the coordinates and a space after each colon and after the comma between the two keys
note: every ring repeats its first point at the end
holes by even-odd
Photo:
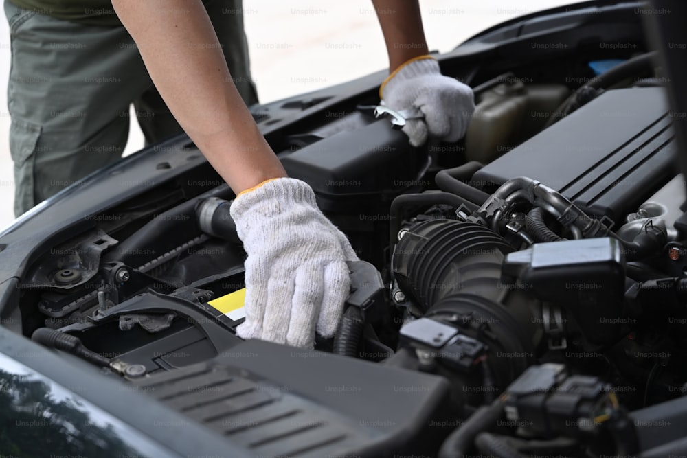
{"type": "Polygon", "coordinates": [[[677,174],[666,93],[614,89],[486,165],[473,181],[493,190],[528,176],[614,222],[677,174]]]}

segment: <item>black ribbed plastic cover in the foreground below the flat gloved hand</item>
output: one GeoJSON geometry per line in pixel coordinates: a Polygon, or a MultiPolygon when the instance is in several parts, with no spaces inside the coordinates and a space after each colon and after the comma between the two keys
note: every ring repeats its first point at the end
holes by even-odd
{"type": "Polygon", "coordinates": [[[429,456],[455,426],[444,378],[264,341],[134,383],[258,457],[429,456]]]}

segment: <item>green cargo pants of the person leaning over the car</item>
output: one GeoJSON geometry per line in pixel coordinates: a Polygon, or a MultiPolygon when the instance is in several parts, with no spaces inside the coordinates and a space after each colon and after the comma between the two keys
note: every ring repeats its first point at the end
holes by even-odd
{"type": "MultiPolygon", "coordinates": [[[[257,102],[242,0],[206,8],[245,102],[257,102]]],[[[146,144],[181,132],[124,27],[98,27],[23,10],[5,0],[14,214],[122,156],[134,104],[146,144]]]]}

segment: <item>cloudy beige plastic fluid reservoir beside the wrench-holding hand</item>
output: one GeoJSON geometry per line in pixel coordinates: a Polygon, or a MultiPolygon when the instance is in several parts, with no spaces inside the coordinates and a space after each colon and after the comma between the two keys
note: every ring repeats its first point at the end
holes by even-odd
{"type": "Polygon", "coordinates": [[[466,159],[489,163],[538,133],[567,95],[563,84],[499,84],[477,97],[466,159]]]}

